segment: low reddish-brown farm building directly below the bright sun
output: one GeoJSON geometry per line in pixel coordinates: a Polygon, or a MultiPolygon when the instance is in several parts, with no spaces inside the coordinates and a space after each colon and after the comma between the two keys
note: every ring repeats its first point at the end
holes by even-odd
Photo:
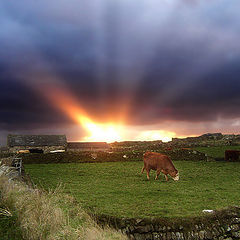
{"type": "Polygon", "coordinates": [[[68,142],[67,151],[81,152],[81,151],[108,151],[110,149],[109,144],[106,142],[68,142]]]}

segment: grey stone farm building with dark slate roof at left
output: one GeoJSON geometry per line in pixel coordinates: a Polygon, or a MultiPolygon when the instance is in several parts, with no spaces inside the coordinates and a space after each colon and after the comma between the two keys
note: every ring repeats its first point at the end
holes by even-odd
{"type": "Polygon", "coordinates": [[[8,135],[7,146],[10,152],[19,150],[42,150],[50,152],[63,150],[67,146],[65,135],[8,135]]]}

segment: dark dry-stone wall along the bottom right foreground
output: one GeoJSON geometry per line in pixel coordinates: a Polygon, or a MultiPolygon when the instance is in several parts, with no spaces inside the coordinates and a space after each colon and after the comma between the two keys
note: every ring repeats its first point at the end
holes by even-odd
{"type": "Polygon", "coordinates": [[[97,222],[126,233],[133,240],[240,239],[240,207],[186,219],[120,219],[95,216],[97,222]]]}

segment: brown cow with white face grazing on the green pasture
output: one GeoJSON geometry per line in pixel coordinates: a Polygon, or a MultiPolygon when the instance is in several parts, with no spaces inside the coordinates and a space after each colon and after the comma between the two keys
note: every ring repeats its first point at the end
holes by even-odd
{"type": "Polygon", "coordinates": [[[144,167],[142,168],[141,173],[144,172],[144,169],[147,172],[147,179],[149,180],[150,170],[157,170],[157,175],[155,179],[158,179],[160,172],[165,175],[166,181],[168,181],[168,174],[173,178],[174,181],[179,180],[179,172],[174,167],[172,160],[161,153],[155,152],[146,152],[143,155],[144,167]]]}

